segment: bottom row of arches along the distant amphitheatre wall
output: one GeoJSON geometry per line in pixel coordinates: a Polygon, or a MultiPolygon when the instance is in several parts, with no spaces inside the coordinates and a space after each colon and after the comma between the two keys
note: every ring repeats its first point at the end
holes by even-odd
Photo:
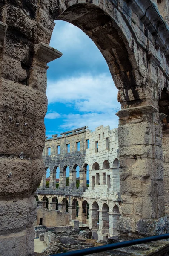
{"type": "MultiPolygon", "coordinates": [[[[38,199],[37,196],[36,199],[38,199]]],[[[107,203],[99,206],[97,201],[89,205],[86,200],[78,201],[77,198],[73,198],[69,200],[70,203],[68,200],[69,198],[65,197],[59,203],[58,198],[54,196],[49,206],[49,198],[44,196],[39,204],[41,204],[43,209],[50,208],[52,210],[69,212],[70,221],[78,219],[81,224],[88,224],[92,230],[97,230],[101,240],[105,240],[110,234],[115,235],[117,233],[117,222],[120,216],[117,204],[109,212],[109,205],[107,203]]]]}

